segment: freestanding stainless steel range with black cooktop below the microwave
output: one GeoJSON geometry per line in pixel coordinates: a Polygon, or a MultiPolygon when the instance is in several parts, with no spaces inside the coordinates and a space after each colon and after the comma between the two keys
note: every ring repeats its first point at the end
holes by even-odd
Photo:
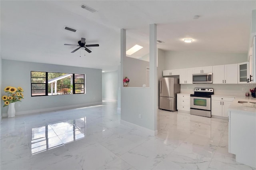
{"type": "Polygon", "coordinates": [[[194,94],[190,95],[190,114],[211,117],[212,88],[194,88],[194,94]]]}

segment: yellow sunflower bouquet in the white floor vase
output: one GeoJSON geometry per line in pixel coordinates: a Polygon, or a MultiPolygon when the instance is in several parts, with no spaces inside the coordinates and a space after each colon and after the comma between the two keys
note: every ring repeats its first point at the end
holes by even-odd
{"type": "Polygon", "coordinates": [[[10,103],[15,103],[16,101],[21,101],[21,99],[24,99],[24,95],[22,93],[23,89],[21,87],[16,88],[7,86],[4,88],[4,91],[7,93],[7,95],[2,97],[4,107],[10,105],[10,103]]]}

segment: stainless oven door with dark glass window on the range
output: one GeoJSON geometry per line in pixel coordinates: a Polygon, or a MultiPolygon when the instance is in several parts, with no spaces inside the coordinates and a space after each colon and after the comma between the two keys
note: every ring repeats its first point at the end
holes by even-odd
{"type": "Polygon", "coordinates": [[[211,97],[196,97],[190,96],[190,108],[191,109],[202,109],[202,110],[211,110],[211,97]]]}

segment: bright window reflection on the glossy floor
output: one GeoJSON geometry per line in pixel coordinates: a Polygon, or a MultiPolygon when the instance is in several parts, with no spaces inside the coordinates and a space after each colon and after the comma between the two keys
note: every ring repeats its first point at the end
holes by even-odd
{"type": "Polygon", "coordinates": [[[37,154],[86,136],[86,117],[31,129],[31,153],[37,154]]]}

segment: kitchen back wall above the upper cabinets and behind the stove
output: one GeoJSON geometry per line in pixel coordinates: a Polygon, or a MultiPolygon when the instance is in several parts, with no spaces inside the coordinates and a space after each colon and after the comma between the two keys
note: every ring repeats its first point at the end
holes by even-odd
{"type": "MultiPolygon", "coordinates": [[[[242,63],[246,53],[216,53],[205,51],[164,51],[164,70],[242,63]]],[[[159,63],[158,63],[159,64],[159,63]]],[[[214,75],[213,75],[214,76],[214,75]]],[[[256,84],[182,84],[181,93],[194,93],[195,87],[214,88],[215,95],[244,96],[256,84]],[[242,87],[245,91],[242,91],[242,87]]]]}

